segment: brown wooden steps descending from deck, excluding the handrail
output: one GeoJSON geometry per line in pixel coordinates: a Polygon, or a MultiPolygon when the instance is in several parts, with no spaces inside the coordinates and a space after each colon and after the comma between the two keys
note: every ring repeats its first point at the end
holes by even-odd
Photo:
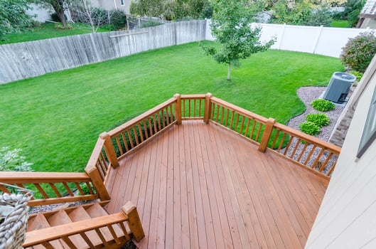
{"type": "MultiPolygon", "coordinates": [[[[104,216],[109,216],[104,206],[108,201],[100,203],[90,203],[82,206],[63,208],[45,213],[31,215],[28,219],[26,236],[41,234],[51,234],[54,231],[69,231],[73,227],[85,227],[87,221],[100,220],[104,216]],[[41,233],[43,231],[43,233],[41,233]]],[[[120,214],[120,213],[119,213],[120,214]]],[[[116,214],[115,214],[116,215],[116,214]]],[[[119,224],[97,228],[98,231],[90,230],[66,238],[50,240],[53,248],[120,248],[129,240],[129,234],[124,234],[119,224]],[[68,238],[68,239],[67,239],[68,238]]],[[[43,240],[43,238],[41,238],[43,240]]],[[[33,245],[28,248],[50,248],[45,242],[41,245],[33,245]]]]}

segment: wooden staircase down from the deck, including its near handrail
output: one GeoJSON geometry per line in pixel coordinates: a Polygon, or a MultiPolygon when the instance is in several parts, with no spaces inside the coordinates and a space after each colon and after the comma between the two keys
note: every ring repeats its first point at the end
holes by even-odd
{"type": "Polygon", "coordinates": [[[90,203],[31,215],[28,219],[25,248],[120,248],[132,236],[131,224],[124,226],[131,204],[122,213],[109,215],[109,201],[90,203]],[[129,231],[130,229],[130,231],[129,231]],[[128,231],[129,232],[128,232],[128,231]]]}

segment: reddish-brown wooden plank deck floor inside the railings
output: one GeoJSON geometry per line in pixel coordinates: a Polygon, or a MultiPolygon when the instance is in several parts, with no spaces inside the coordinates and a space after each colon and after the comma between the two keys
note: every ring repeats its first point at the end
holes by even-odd
{"type": "Polygon", "coordinates": [[[136,204],[139,248],[304,248],[328,184],[202,120],[151,139],[107,183],[109,213],[136,204]]]}

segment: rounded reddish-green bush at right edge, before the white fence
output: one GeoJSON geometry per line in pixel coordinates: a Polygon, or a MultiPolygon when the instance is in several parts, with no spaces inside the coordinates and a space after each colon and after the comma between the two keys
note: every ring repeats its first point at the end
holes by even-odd
{"type": "Polygon", "coordinates": [[[375,33],[360,33],[359,36],[350,38],[342,48],[340,60],[348,68],[364,73],[375,54],[375,33]]]}

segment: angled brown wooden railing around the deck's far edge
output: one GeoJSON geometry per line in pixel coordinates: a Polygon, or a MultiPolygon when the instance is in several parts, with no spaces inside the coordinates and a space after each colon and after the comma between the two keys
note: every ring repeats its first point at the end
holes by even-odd
{"type": "Polygon", "coordinates": [[[101,134],[87,169],[97,169],[106,182],[108,171],[112,166],[118,166],[119,160],[173,124],[186,120],[203,120],[225,127],[257,144],[260,152],[268,150],[279,154],[325,179],[331,176],[340,154],[340,147],[334,144],[249,112],[210,93],[176,94],[161,105],[101,134]]]}

